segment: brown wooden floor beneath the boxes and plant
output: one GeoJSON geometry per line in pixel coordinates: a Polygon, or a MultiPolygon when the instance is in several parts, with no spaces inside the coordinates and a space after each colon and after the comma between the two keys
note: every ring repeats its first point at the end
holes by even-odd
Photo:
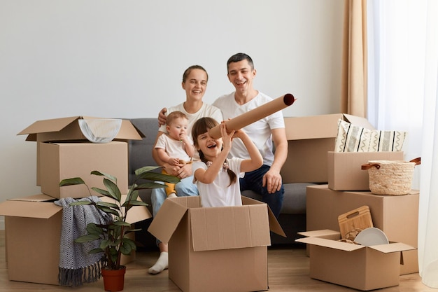
{"type": "MultiPolygon", "coordinates": [[[[167,270],[157,275],[147,273],[148,267],[155,263],[158,251],[137,252],[135,262],[127,265],[125,290],[127,292],[154,291],[172,292],[180,289],[168,278],[167,270]]],[[[343,286],[310,279],[309,258],[306,250],[294,246],[269,247],[269,291],[357,291],[343,286]]],[[[79,288],[32,284],[8,280],[8,269],[5,263],[4,230],[0,230],[0,291],[104,291],[102,280],[93,284],[85,284],[79,288]]],[[[407,274],[400,277],[400,286],[379,289],[379,292],[437,292],[421,283],[418,274],[407,274]]],[[[226,291],[224,291],[226,292],[226,291]]]]}

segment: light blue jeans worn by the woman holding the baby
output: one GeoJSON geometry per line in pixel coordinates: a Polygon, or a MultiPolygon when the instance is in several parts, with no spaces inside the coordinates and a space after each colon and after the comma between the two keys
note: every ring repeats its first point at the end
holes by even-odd
{"type": "MultiPolygon", "coordinates": [[[[158,183],[158,181],[155,181],[158,183]]],[[[160,182],[161,183],[161,182],[160,182]]],[[[199,195],[197,186],[193,183],[193,176],[188,176],[185,179],[181,179],[179,183],[175,185],[176,195],[178,197],[185,197],[190,195],[199,195]]],[[[152,214],[155,217],[160,210],[164,200],[167,199],[166,190],[164,188],[154,188],[150,194],[150,201],[152,202],[152,214]]],[[[157,239],[157,245],[160,240],[157,239]]]]}

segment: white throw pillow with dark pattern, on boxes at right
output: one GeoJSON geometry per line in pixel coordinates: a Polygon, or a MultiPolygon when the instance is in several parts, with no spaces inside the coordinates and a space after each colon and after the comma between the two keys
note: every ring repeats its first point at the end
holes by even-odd
{"type": "Polygon", "coordinates": [[[338,120],[334,152],[402,151],[406,132],[379,131],[338,120]]]}

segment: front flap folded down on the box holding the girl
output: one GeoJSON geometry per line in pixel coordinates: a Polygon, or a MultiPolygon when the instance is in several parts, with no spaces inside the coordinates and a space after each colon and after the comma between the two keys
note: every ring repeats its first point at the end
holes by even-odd
{"type": "Polygon", "coordinates": [[[269,219],[263,204],[190,209],[194,251],[269,246],[269,219]]]}

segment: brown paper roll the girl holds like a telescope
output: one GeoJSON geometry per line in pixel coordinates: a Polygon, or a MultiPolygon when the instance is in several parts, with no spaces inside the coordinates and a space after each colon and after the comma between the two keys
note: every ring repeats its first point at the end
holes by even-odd
{"type": "MultiPolygon", "coordinates": [[[[271,102],[267,102],[255,109],[252,109],[246,113],[242,113],[240,116],[236,116],[230,120],[225,121],[225,125],[227,125],[227,131],[231,132],[232,130],[239,130],[247,125],[250,125],[257,120],[265,118],[272,113],[276,113],[277,111],[281,111],[286,107],[292,105],[295,102],[295,97],[290,93],[283,95],[282,97],[278,97],[271,102]]],[[[218,139],[222,137],[220,134],[220,127],[217,125],[213,127],[209,131],[210,137],[213,139],[218,139]]]]}

